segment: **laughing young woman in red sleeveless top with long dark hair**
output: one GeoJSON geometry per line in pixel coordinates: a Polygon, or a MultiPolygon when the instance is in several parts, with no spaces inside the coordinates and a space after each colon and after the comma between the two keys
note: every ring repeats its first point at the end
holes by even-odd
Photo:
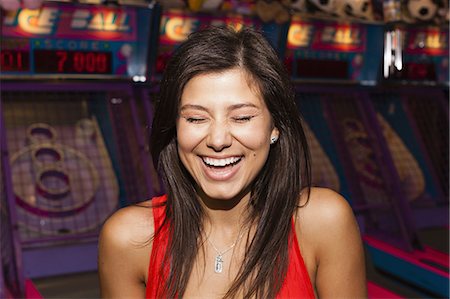
{"type": "Polygon", "coordinates": [[[352,210],[310,187],[297,111],[261,34],[192,34],[165,70],[152,127],[167,194],[105,223],[102,296],[366,297],[352,210]]]}

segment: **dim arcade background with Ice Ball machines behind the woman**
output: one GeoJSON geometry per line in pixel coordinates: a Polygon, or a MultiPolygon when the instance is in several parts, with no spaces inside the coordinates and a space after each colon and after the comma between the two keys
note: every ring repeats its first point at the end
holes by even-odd
{"type": "Polygon", "coordinates": [[[173,50],[261,30],[291,74],[313,183],[345,196],[369,298],[449,297],[449,3],[44,1],[1,15],[0,298],[99,298],[97,237],[164,193],[148,151],[173,50]]]}

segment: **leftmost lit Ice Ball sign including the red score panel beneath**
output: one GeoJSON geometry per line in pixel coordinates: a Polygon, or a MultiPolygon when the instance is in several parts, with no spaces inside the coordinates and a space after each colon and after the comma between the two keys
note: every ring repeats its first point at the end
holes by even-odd
{"type": "Polygon", "coordinates": [[[45,3],[2,19],[1,75],[144,75],[152,11],[45,3]]]}

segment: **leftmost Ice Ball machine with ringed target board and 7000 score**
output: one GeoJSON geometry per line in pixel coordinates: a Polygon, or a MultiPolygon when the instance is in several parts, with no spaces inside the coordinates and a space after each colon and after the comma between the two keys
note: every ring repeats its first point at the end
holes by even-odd
{"type": "Polygon", "coordinates": [[[157,192],[134,105],[155,15],[138,2],[45,2],[3,17],[1,202],[13,238],[2,216],[2,257],[22,249],[18,269],[3,267],[12,291],[20,267],[30,278],[95,270],[103,221],[157,192]]]}

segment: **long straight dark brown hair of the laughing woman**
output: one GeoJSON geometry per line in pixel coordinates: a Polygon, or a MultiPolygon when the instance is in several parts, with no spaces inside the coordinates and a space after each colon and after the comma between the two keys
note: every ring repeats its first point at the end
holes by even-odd
{"type": "Polygon", "coordinates": [[[203,211],[195,183],[177,152],[176,121],[186,83],[199,74],[242,68],[256,83],[280,136],[252,184],[250,222],[256,227],[225,297],[274,298],[288,265],[291,221],[300,192],[310,186],[310,159],[289,76],[276,52],[254,29],[211,27],[189,36],[174,53],[161,81],[151,135],[151,154],[167,191],[165,223],[170,265],[164,296],[181,297],[200,248],[203,211]]]}

